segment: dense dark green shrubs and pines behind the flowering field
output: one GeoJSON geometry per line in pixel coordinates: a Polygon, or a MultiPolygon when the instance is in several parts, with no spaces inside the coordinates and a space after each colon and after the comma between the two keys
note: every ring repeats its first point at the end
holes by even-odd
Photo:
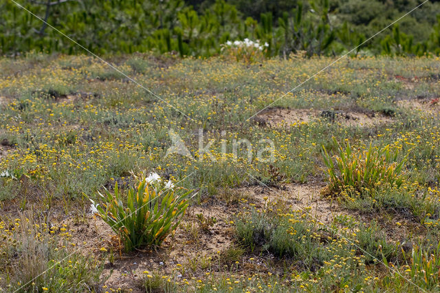
{"type": "MultiPolygon", "coordinates": [[[[342,54],[421,0],[30,1],[21,5],[98,54],[179,52],[212,56],[226,41],[268,43],[267,56],[342,54]]],[[[439,53],[438,1],[428,1],[354,54],[439,53]]],[[[9,0],[0,1],[0,54],[83,52],[9,0]]]]}

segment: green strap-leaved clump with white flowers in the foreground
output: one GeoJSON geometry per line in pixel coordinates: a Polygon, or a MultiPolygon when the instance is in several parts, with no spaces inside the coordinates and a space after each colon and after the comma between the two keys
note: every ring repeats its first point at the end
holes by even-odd
{"type": "Polygon", "coordinates": [[[113,193],[98,193],[104,204],[91,200],[92,212],[111,226],[127,251],[159,246],[184,217],[191,193],[179,192],[181,188],[175,188],[171,182],[165,184],[155,173],[135,178],[137,188],[130,188],[126,197],[122,197],[115,183],[113,193]]]}

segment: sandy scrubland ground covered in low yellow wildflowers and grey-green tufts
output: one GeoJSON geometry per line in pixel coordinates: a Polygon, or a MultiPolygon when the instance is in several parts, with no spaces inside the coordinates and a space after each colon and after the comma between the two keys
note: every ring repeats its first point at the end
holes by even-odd
{"type": "Polygon", "coordinates": [[[347,58],[289,94],[334,59],[111,60],[162,100],[88,56],[0,60],[0,290],[440,291],[438,58],[347,58]],[[89,199],[124,215],[141,172],[192,193],[129,251],[89,199]]]}

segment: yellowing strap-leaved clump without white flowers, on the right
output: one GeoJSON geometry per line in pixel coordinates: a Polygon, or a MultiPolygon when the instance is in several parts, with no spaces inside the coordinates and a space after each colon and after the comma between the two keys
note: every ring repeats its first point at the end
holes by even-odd
{"type": "MultiPolygon", "coordinates": [[[[334,142],[338,144],[335,138],[334,142]]],[[[400,173],[406,162],[405,156],[397,162],[399,151],[391,151],[389,146],[375,149],[369,146],[367,151],[353,152],[350,144],[342,148],[338,144],[339,154],[329,155],[325,146],[322,146],[322,158],[327,166],[327,173],[331,189],[342,191],[347,187],[362,189],[375,189],[380,184],[390,184],[399,187],[403,178],[400,173]],[[333,163],[333,158],[336,164],[333,163]]]]}

